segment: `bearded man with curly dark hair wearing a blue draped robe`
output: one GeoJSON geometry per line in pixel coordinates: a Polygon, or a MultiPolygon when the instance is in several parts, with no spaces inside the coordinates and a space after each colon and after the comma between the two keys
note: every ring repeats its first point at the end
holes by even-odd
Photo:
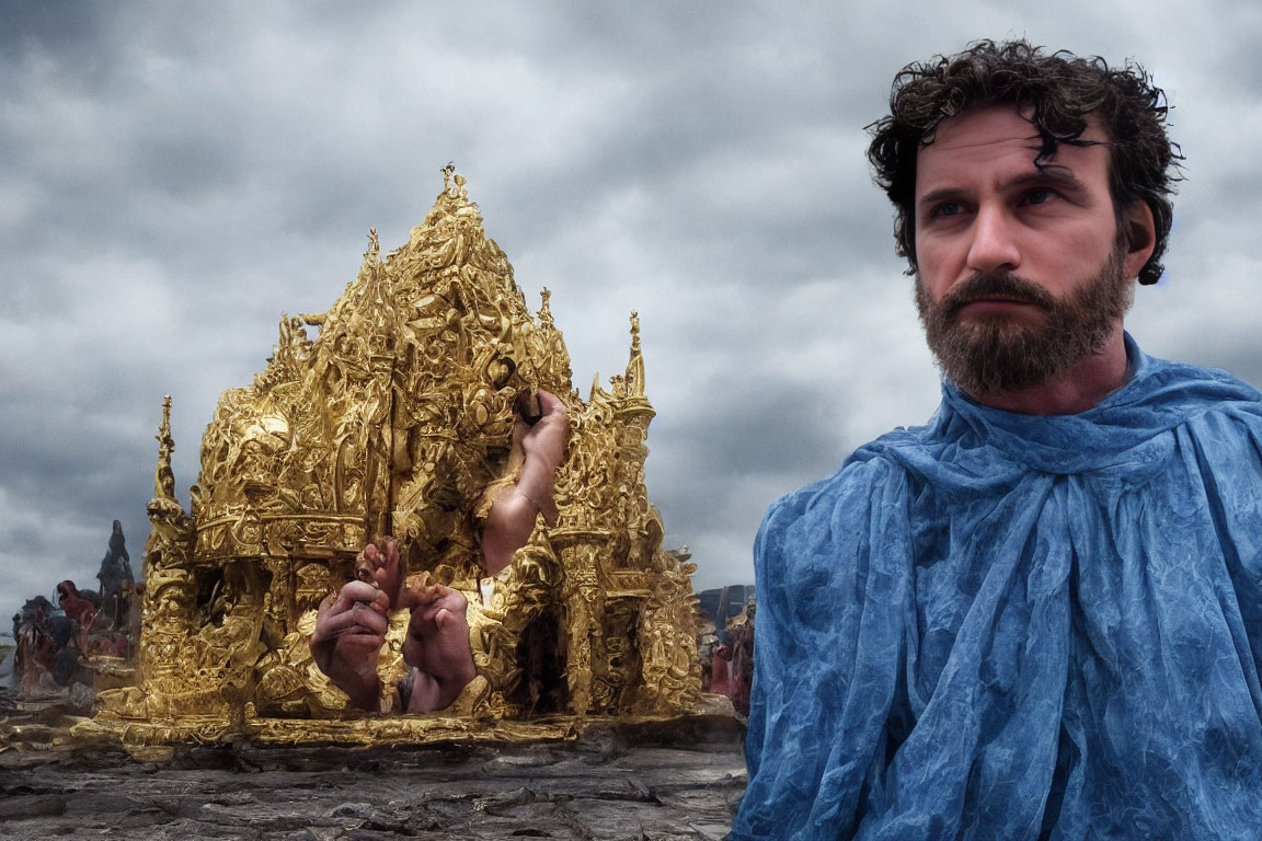
{"type": "Polygon", "coordinates": [[[1023,42],[899,74],[868,154],[943,403],[767,513],[733,838],[1262,832],[1262,403],[1122,328],[1164,119],[1023,42]]]}

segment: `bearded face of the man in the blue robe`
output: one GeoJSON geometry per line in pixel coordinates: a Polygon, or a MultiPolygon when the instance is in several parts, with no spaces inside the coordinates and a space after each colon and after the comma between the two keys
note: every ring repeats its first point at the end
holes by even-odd
{"type": "MultiPolygon", "coordinates": [[[[1084,140],[1106,140],[1090,125],[1084,140]]],[[[973,396],[1060,374],[1121,330],[1143,260],[1126,250],[1108,148],[1041,141],[1013,108],[945,120],[916,160],[916,305],[946,376],[973,396]],[[1138,262],[1136,262],[1138,261],[1138,262]]]]}

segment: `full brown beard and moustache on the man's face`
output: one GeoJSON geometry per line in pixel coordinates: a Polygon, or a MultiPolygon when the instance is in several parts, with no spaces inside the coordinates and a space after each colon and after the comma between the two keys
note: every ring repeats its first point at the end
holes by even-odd
{"type": "Polygon", "coordinates": [[[1000,271],[974,274],[934,303],[916,280],[916,309],[929,349],[943,373],[973,397],[1040,386],[1100,353],[1133,299],[1121,245],[1064,299],[1000,271]],[[994,295],[1039,308],[1042,324],[1025,324],[1006,313],[960,318],[965,304],[994,295]]]}

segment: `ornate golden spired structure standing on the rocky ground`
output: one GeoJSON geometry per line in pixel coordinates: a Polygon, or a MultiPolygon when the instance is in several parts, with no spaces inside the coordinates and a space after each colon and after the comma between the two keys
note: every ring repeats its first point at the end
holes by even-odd
{"type": "MultiPolygon", "coordinates": [[[[144,625],[134,686],[100,696],[91,725],[133,744],[525,739],[593,716],[663,716],[699,700],[692,564],[661,548],[644,484],[639,320],[631,358],[587,401],[549,310],[531,315],[464,179],[405,246],[376,232],[358,277],[322,315],[283,315],[254,385],[222,395],[202,439],[191,511],[174,494],[163,406],[144,625]],[[307,328],[318,328],[309,338],[307,328]],[[512,403],[544,388],[570,419],[560,511],[495,577],[481,577],[490,494],[515,480],[512,403]],[[394,535],[409,572],[469,599],[480,677],[452,709],[365,716],[312,662],[316,606],[355,555],[394,535]]],[[[403,668],[395,617],[379,672],[403,668]]]]}

